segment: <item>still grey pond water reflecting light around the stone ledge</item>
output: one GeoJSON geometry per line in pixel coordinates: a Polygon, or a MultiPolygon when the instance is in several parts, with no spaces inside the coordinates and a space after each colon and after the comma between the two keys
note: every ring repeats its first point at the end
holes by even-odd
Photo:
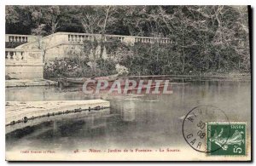
{"type": "MultiPolygon", "coordinates": [[[[6,100],[109,100],[111,108],[80,118],[49,119],[6,135],[6,150],[73,151],[77,148],[179,146],[183,117],[200,105],[217,106],[230,122],[251,126],[250,81],[193,81],[172,94],[85,95],[78,88],[7,88],[6,100]]],[[[250,135],[250,133],[249,133],[250,135]]]]}

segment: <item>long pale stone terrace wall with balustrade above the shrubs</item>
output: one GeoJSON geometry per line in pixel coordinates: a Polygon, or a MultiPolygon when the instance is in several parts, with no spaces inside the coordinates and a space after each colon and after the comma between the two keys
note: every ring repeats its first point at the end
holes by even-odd
{"type": "MultiPolygon", "coordinates": [[[[160,44],[173,44],[173,41],[167,37],[137,37],[137,36],[122,36],[122,35],[104,35],[104,40],[107,42],[113,42],[113,40],[119,40],[122,43],[137,44],[137,43],[160,43],[160,44]]],[[[15,49],[42,49],[44,50],[44,60],[55,60],[55,58],[69,57],[70,52],[74,50],[83,50],[84,41],[100,41],[101,34],[89,34],[89,33],[74,33],[74,32],[56,32],[46,37],[40,38],[35,42],[29,42],[21,44],[15,49]]],[[[101,50],[99,47],[97,51],[101,50]]],[[[106,52],[106,48],[103,49],[106,52]]],[[[19,53],[18,53],[19,54],[19,53]]],[[[96,53],[97,54],[97,53],[96,53]]],[[[20,55],[19,55],[20,56],[20,55]]],[[[10,55],[9,55],[10,57],[10,55]]],[[[106,52],[106,56],[107,52],[106,52]]],[[[18,58],[17,58],[18,59],[18,58]]]]}

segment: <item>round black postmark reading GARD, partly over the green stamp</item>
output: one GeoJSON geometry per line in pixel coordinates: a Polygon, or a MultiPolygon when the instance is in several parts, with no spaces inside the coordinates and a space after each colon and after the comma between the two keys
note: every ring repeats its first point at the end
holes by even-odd
{"type": "Polygon", "coordinates": [[[230,137],[230,121],[217,106],[196,106],[183,118],[183,138],[197,152],[224,149],[230,137]],[[211,128],[210,124],[214,124],[211,128]],[[226,125],[223,125],[226,124],[226,125]],[[218,146],[211,146],[212,143],[218,146]]]}

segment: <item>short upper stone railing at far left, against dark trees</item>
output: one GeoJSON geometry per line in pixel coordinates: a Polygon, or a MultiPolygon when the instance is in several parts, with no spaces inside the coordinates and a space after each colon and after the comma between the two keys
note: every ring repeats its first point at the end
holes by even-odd
{"type": "Polygon", "coordinates": [[[6,43],[28,43],[37,40],[37,36],[33,35],[16,35],[16,34],[5,34],[6,43]]]}

